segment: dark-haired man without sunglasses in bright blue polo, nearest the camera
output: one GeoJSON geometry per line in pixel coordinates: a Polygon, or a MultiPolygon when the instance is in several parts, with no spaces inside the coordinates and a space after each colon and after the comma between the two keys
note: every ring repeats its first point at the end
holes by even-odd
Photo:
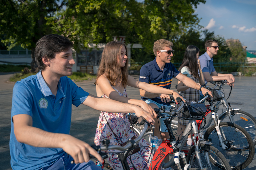
{"type": "Polygon", "coordinates": [[[13,88],[10,154],[12,169],[101,169],[89,153],[101,156],[87,143],[69,135],[71,106],[81,103],[111,113],[136,113],[153,122],[150,113],[128,103],[90,95],[66,76],[72,75],[72,42],[50,34],[36,44],[41,71],[18,81],[13,88]],[[74,160],[75,164],[71,164],[74,160]]]}

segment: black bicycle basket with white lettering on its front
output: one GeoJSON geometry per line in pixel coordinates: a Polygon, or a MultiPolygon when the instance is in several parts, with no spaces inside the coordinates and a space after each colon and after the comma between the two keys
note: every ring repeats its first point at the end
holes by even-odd
{"type": "Polygon", "coordinates": [[[184,107],[182,119],[201,120],[204,118],[206,111],[207,107],[203,103],[188,103],[188,107],[184,107]]]}

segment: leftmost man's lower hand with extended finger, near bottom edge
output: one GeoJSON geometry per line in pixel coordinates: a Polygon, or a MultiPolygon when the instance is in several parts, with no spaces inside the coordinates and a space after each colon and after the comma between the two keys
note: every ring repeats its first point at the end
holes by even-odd
{"type": "Polygon", "coordinates": [[[88,162],[89,154],[103,163],[102,157],[89,144],[70,135],[67,135],[62,141],[64,145],[62,149],[74,159],[74,163],[88,162]]]}

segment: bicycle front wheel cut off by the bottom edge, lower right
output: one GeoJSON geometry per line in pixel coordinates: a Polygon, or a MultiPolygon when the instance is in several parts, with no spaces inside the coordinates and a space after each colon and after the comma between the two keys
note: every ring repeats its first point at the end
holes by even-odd
{"type": "Polygon", "coordinates": [[[187,162],[192,168],[200,168],[199,161],[202,163],[204,170],[231,170],[227,159],[223,154],[211,145],[199,144],[199,156],[196,156],[195,145],[189,150],[187,155],[187,162]]]}

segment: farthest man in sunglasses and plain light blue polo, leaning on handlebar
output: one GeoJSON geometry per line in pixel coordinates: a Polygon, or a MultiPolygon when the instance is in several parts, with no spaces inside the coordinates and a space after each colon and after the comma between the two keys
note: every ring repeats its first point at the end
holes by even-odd
{"type": "Polygon", "coordinates": [[[218,54],[219,46],[215,40],[207,40],[204,44],[206,52],[199,57],[205,84],[209,81],[227,80],[227,84],[234,87],[235,78],[232,74],[220,74],[213,66],[213,56],[218,54]]]}

